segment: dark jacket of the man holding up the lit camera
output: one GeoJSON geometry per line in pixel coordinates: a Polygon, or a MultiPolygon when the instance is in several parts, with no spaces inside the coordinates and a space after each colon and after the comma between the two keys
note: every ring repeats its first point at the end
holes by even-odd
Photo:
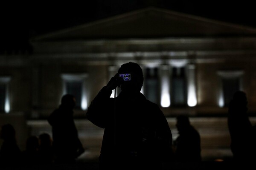
{"type": "Polygon", "coordinates": [[[157,104],[141,93],[110,98],[102,88],[93,99],[87,119],[105,129],[99,160],[161,162],[170,155],[172,132],[157,104]]]}

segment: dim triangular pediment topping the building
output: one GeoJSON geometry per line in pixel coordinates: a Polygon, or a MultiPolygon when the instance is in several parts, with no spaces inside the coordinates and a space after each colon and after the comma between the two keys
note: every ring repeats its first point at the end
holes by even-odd
{"type": "Polygon", "coordinates": [[[256,28],[239,26],[162,8],[143,8],[114,17],[34,37],[34,40],[104,38],[205,37],[256,35],[256,28]]]}

